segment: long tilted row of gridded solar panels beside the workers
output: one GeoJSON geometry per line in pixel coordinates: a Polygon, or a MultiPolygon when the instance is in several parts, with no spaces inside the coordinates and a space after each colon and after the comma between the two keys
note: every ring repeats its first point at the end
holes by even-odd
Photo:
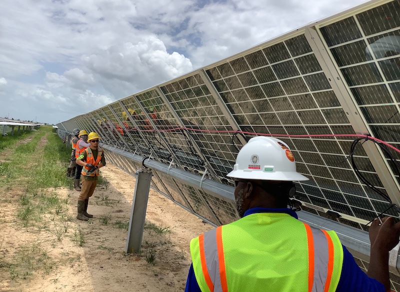
{"type": "MultiPolygon", "coordinates": [[[[400,1],[382,0],[58,127],[97,131],[105,144],[229,185],[226,174],[241,146],[257,134],[270,134],[289,145],[297,170],[309,178],[296,182],[302,209],[324,217],[334,211],[340,215],[334,220],[367,230],[365,224],[377,214],[398,213],[357,177],[348,159],[354,137],[342,135],[369,133],[399,148],[399,112],[400,1]],[[330,136],[279,136],[322,134],[330,136]]],[[[390,151],[399,161],[400,154],[390,151]]],[[[141,167],[112,151],[107,155],[130,174],[141,167]]],[[[354,159],[364,177],[398,205],[400,178],[389,157],[367,141],[354,159]]],[[[237,216],[231,199],[164,173],[155,172],[152,186],[215,225],[237,216]]]]}

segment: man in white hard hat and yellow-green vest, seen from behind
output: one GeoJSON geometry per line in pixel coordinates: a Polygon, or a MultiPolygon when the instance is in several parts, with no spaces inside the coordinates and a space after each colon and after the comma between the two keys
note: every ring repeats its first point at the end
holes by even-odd
{"type": "Polygon", "coordinates": [[[296,171],[287,144],[251,138],[234,168],[240,219],[190,241],[192,265],[185,291],[382,291],[389,290],[389,251],[398,243],[400,222],[385,217],[369,228],[370,263],[365,274],[334,231],[310,227],[287,208],[296,171]]]}

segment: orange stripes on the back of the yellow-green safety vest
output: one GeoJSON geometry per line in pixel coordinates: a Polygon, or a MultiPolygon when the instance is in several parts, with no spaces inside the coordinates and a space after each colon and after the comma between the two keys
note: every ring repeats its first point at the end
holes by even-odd
{"type": "MultiPolygon", "coordinates": [[[[332,272],[334,246],[325,230],[304,223],[308,242],[308,291],[327,292],[332,272]]],[[[228,292],[223,254],[222,226],[199,236],[201,270],[212,292],[228,292]],[[215,256],[217,255],[217,256],[215,256]]]]}

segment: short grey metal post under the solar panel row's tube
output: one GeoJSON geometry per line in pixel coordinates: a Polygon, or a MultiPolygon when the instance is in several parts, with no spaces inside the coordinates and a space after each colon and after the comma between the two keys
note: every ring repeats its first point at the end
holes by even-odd
{"type": "Polygon", "coordinates": [[[148,192],[150,190],[152,176],[151,170],[139,169],[136,174],[125,253],[140,251],[144,219],[146,217],[148,192]]]}

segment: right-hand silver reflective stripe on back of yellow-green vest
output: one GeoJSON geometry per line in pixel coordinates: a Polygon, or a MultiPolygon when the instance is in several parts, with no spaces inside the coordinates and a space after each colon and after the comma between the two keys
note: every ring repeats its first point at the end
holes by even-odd
{"type": "MultiPolygon", "coordinates": [[[[323,292],[328,274],[328,242],[325,234],[320,229],[311,227],[311,232],[314,241],[314,280],[311,291],[323,292]]],[[[310,243],[312,242],[308,242],[308,244],[310,243]]]]}

